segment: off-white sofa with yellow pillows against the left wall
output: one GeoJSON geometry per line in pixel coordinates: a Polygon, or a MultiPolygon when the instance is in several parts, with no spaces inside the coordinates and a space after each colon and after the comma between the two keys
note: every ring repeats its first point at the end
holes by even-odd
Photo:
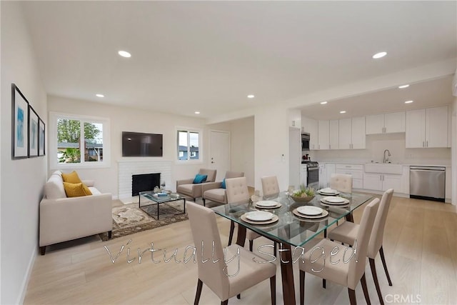
{"type": "Polygon", "coordinates": [[[61,171],[55,171],[44,186],[40,202],[39,246],[41,255],[46,246],[62,241],[108,232],[111,238],[111,194],[101,194],[94,181],[84,180],[92,195],[67,198],[61,171]]]}

